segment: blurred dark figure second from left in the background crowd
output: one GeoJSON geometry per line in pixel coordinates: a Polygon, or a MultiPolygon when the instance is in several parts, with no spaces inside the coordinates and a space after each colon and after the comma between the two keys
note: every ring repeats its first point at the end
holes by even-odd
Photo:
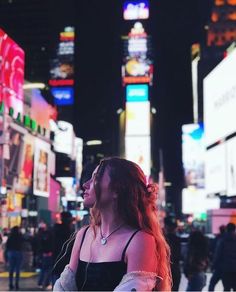
{"type": "Polygon", "coordinates": [[[48,229],[47,224],[40,224],[41,231],[37,237],[38,240],[38,254],[40,257],[40,273],[38,278],[38,286],[40,288],[47,288],[51,283],[51,269],[52,269],[52,250],[53,241],[52,233],[48,229]]]}

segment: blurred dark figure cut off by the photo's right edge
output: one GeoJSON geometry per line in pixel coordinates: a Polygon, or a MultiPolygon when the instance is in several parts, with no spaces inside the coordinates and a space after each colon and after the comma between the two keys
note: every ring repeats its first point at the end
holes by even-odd
{"type": "Polygon", "coordinates": [[[224,291],[236,291],[236,233],[235,224],[228,223],[226,233],[216,247],[214,265],[222,268],[224,291]]]}

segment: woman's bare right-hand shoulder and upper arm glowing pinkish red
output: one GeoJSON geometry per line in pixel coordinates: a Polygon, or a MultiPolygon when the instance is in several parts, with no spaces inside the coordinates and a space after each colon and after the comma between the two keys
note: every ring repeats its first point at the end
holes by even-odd
{"type": "Polygon", "coordinates": [[[147,271],[155,272],[156,259],[156,242],[151,234],[139,231],[132,238],[127,249],[128,272],[147,271]]]}

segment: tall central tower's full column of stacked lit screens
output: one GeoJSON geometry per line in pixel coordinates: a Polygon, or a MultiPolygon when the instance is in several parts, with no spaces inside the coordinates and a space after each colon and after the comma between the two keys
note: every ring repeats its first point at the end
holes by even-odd
{"type": "Polygon", "coordinates": [[[151,169],[150,102],[153,64],[150,37],[145,31],[149,17],[148,1],[125,1],[123,17],[130,22],[128,35],[123,36],[124,57],[122,84],[126,92],[125,156],[136,162],[146,176],[151,169]]]}

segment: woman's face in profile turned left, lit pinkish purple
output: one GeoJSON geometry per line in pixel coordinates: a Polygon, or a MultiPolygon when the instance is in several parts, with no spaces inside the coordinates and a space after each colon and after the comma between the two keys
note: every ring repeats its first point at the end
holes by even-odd
{"type": "MultiPolygon", "coordinates": [[[[95,184],[95,177],[96,177],[97,170],[98,170],[98,166],[94,170],[91,179],[83,184],[83,187],[85,190],[84,191],[84,206],[87,208],[92,208],[96,202],[96,193],[95,193],[94,184],[95,184]]],[[[101,197],[99,200],[98,207],[102,208],[104,206],[111,204],[111,202],[114,200],[112,191],[109,188],[110,176],[107,169],[105,169],[104,174],[98,183],[100,184],[100,189],[101,189],[101,197]]]]}

